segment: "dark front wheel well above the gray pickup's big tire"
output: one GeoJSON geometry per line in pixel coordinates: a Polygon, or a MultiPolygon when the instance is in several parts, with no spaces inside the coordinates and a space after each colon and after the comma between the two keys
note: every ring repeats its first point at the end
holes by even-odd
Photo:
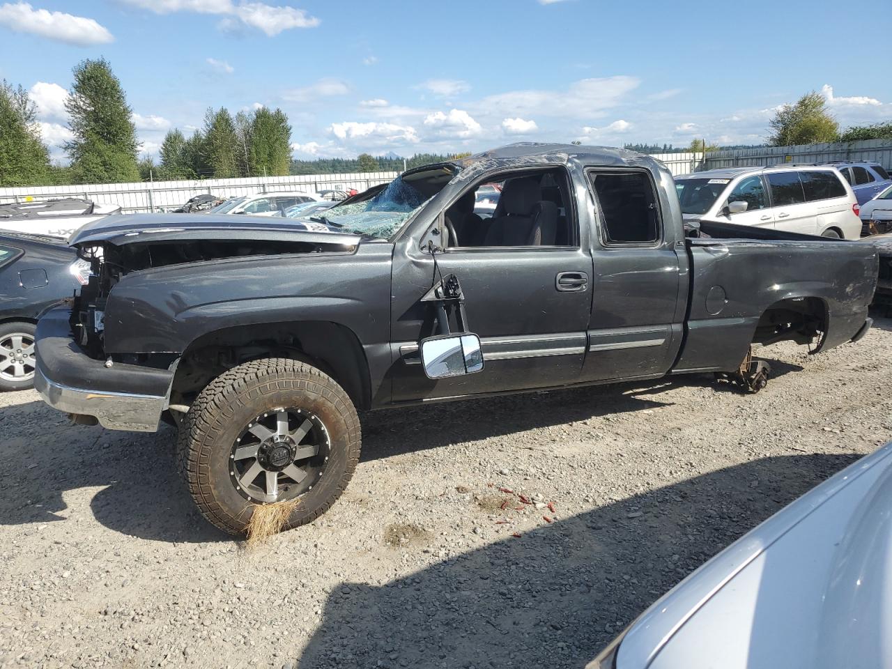
{"type": "Polygon", "coordinates": [[[357,408],[368,408],[368,362],[359,338],[328,321],[258,323],[200,336],[179,359],[170,404],[189,405],[205,385],[244,362],[264,358],[300,360],[343,387],[357,408]]]}

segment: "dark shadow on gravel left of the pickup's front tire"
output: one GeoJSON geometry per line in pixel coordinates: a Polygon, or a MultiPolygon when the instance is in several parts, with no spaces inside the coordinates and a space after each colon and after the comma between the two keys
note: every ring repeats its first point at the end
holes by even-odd
{"type": "Polygon", "coordinates": [[[67,523],[77,533],[83,525],[69,516],[87,509],[62,495],[102,487],[90,510],[111,530],[154,541],[232,540],[195,510],[177,474],[171,428],[128,434],[71,426],[29,402],[0,412],[0,434],[0,525],[67,523]]]}

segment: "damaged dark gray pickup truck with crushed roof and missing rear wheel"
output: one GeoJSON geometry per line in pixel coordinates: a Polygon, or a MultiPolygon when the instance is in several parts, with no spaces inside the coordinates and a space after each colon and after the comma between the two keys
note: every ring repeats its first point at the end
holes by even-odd
{"type": "Polygon", "coordinates": [[[298,500],[295,526],[335,502],[357,409],[691,372],[755,391],[753,344],[818,352],[871,325],[870,246],[686,228],[672,175],[638,153],[510,145],[324,213],[82,228],[93,276],[37,326],[37,389],[78,423],[178,425],[195,503],[243,533],[256,505],[298,500]]]}

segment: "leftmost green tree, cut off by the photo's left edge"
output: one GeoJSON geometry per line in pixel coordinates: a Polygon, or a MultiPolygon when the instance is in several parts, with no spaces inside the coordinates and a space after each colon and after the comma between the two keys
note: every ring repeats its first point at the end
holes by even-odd
{"type": "Polygon", "coordinates": [[[24,88],[0,81],[0,186],[45,183],[49,152],[40,139],[36,113],[24,88]]]}

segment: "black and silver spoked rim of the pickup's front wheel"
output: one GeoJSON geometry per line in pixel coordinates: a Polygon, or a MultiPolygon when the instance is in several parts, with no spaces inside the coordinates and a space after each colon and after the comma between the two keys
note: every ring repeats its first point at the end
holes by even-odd
{"type": "Polygon", "coordinates": [[[229,453],[229,479],[246,500],[292,500],[323,475],[331,440],[322,420],[306,409],[273,409],[254,417],[229,453]]]}

